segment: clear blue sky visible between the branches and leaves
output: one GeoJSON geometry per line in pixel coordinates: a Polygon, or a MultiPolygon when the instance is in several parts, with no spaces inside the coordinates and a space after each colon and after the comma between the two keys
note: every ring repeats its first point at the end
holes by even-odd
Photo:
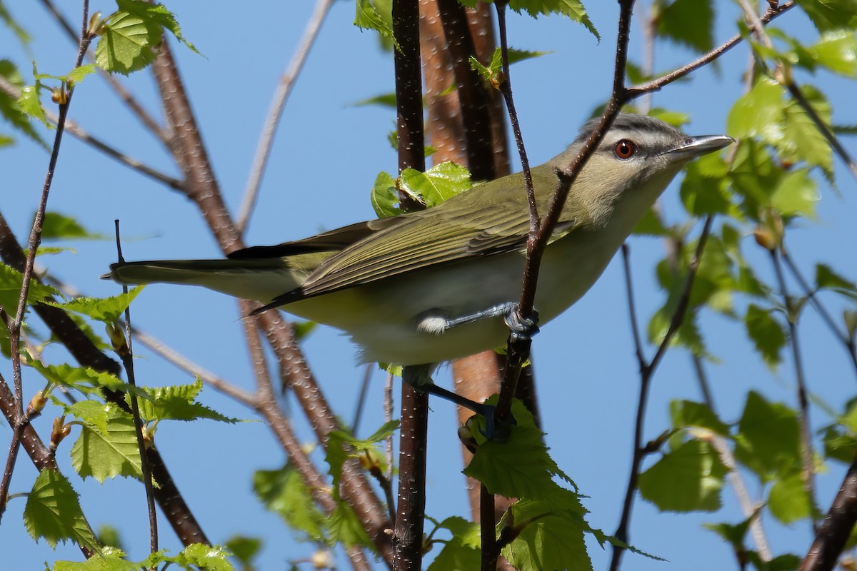
{"type": "MultiPolygon", "coordinates": [[[[583,27],[560,17],[534,21],[528,16],[512,15],[510,19],[512,46],[553,52],[512,68],[516,105],[532,164],[540,164],[562,151],[591,110],[608,95],[617,6],[591,0],[588,4],[592,21],[602,34],[600,44],[583,27]]],[[[732,3],[716,4],[721,9],[716,31],[720,42],[734,33],[736,11],[732,3]]],[[[21,51],[3,28],[3,52],[11,53],[25,71],[33,58],[44,73],[68,71],[76,48],[39,4],[19,0],[6,6],[33,34],[33,44],[29,53],[21,51]]],[[[177,15],[184,35],[205,55],[199,57],[182,47],[174,49],[225,199],[237,210],[273,88],[291,58],[311,3],[257,2],[236,9],[233,3],[174,0],[167,6],[177,15]]],[[[111,3],[93,3],[92,9],[110,12],[111,3]]],[[[249,226],[250,244],[297,239],[374,217],[369,190],[375,175],[380,170],[392,172],[396,168],[395,152],[387,143],[387,133],[394,127],[393,112],[354,105],[364,98],[393,91],[393,65],[379,49],[373,33],[361,32],[351,25],[353,9],[351,2],[334,5],[286,107],[261,199],[249,226]]],[[[643,10],[644,3],[640,3],[638,13],[643,10]]],[[[78,20],[76,12],[69,14],[72,21],[78,20]]],[[[777,25],[800,39],[811,41],[815,37],[812,26],[796,10],[784,15],[777,25]]],[[[638,57],[639,37],[637,24],[632,28],[632,58],[638,57]]],[[[658,69],[671,68],[691,58],[692,54],[674,45],[657,45],[658,69]]],[[[747,58],[746,46],[739,46],[723,57],[716,69],[706,68],[693,74],[691,80],[656,93],[654,104],[688,113],[692,117],[686,127],[688,134],[724,133],[729,104],[740,93],[740,74],[747,58]]],[[[819,75],[812,82],[830,97],[836,122],[857,123],[852,84],[830,75],[819,75]]],[[[156,92],[147,74],[132,76],[128,85],[157,113],[156,92]]],[[[159,144],[142,134],[135,119],[101,80],[90,78],[81,84],[69,116],[124,152],[177,175],[159,144]]],[[[844,142],[852,153],[857,152],[854,140],[844,142]]],[[[47,161],[47,154],[26,140],[0,150],[0,205],[21,239],[27,235],[47,161]]],[[[816,261],[823,261],[855,279],[853,258],[842,251],[857,243],[857,230],[852,223],[857,185],[840,164],[836,174],[840,193],[822,186],[818,219],[800,223],[788,236],[789,246],[805,272],[810,273],[816,261]]],[[[663,199],[668,218],[673,221],[680,217],[677,190],[674,184],[663,199]]],[[[72,215],[104,235],[112,234],[113,220],[119,218],[126,240],[126,259],[220,255],[195,206],[187,199],[71,137],[63,141],[49,209],[72,215]]],[[[72,246],[75,252],[45,261],[51,272],[86,294],[117,294],[115,285],[99,280],[115,259],[112,242],[81,241],[72,246]]],[[[662,302],[652,265],[662,255],[663,245],[652,239],[634,238],[631,247],[638,317],[644,323],[662,302]]],[[[764,253],[754,251],[752,238],[746,240],[746,249],[758,264],[759,273],[770,279],[770,265],[764,253]]],[[[638,392],[618,261],[614,260],[590,294],[543,328],[534,342],[548,445],[560,467],[589,497],[584,504],[592,512],[590,524],[606,532],[613,532],[619,519],[638,392]]],[[[225,296],[173,286],[147,288],[135,302],[133,314],[136,326],[221,377],[249,388],[252,375],[243,350],[239,318],[235,302],[225,296]]],[[[740,324],[716,316],[704,318],[703,323],[710,350],[721,360],[708,366],[708,373],[722,419],[738,418],[750,389],[763,392],[772,401],[794,406],[794,375],[788,360],[786,366],[771,374],[752,352],[740,324]]],[[[811,389],[818,398],[840,407],[854,394],[847,357],[834,346],[830,334],[812,312],[806,313],[802,327],[811,389]]],[[[363,377],[363,369],[355,365],[355,348],[336,331],[326,328],[316,330],[304,348],[333,407],[344,419],[351,419],[363,377]]],[[[139,344],[136,349],[138,382],[160,385],[193,380],[139,344]]],[[[59,358],[62,356],[57,354],[59,358]]],[[[448,386],[446,371],[442,370],[437,380],[448,386]]],[[[3,375],[11,378],[9,371],[3,375]]],[[[373,377],[366,417],[360,427],[364,436],[382,422],[383,378],[380,372],[373,377]]],[[[39,387],[39,379],[31,372],[25,372],[25,383],[27,394],[39,387]]],[[[646,419],[647,438],[668,428],[668,402],[674,398],[700,399],[690,358],[680,350],[670,351],[656,373],[646,419]]],[[[253,419],[248,410],[213,390],[205,390],[202,400],[225,414],[253,419]]],[[[298,408],[294,403],[287,406],[295,412],[295,422],[309,441],[311,435],[298,408]]],[[[464,479],[459,473],[454,411],[444,401],[432,401],[431,407],[427,511],[436,519],[464,515],[468,509],[464,479]]],[[[811,414],[814,426],[827,422],[817,407],[811,414]]],[[[51,422],[50,415],[47,417],[36,422],[45,435],[51,422]]],[[[311,552],[310,546],[293,543],[279,518],[262,509],[252,495],[252,473],[279,467],[285,460],[265,425],[162,423],[157,438],[179,488],[213,541],[224,542],[236,533],[261,536],[265,546],[260,568],[282,568],[285,561],[311,552]]],[[[64,472],[71,475],[69,446],[70,442],[63,443],[58,456],[64,472]]],[[[323,464],[321,457],[320,462],[323,464]]],[[[13,493],[27,491],[34,476],[32,464],[21,455],[13,493]]],[[[842,467],[838,465],[819,475],[818,499],[823,509],[830,504],[841,479],[842,467]]],[[[93,526],[121,522],[131,555],[145,556],[147,523],[141,487],[124,480],[99,485],[73,476],[72,481],[81,492],[83,509],[93,526]]],[[[751,485],[752,493],[758,497],[757,488],[751,485]]],[[[721,512],[690,515],[661,514],[638,499],[632,519],[632,543],[668,561],[626,556],[626,568],[733,568],[734,557],[728,546],[700,527],[705,521],[742,519],[731,488],[724,488],[722,497],[725,508],[721,512]]],[[[23,499],[9,503],[0,526],[0,544],[15,545],[14,550],[7,550],[9,568],[35,568],[45,560],[80,556],[73,546],[61,546],[51,552],[44,542],[33,544],[19,523],[23,507],[23,499]]],[[[768,521],[766,529],[775,553],[801,553],[810,541],[806,522],[782,528],[768,521]]],[[[179,549],[165,522],[161,530],[162,545],[179,549]]],[[[607,566],[609,550],[590,542],[590,555],[596,568],[607,566]]]]}

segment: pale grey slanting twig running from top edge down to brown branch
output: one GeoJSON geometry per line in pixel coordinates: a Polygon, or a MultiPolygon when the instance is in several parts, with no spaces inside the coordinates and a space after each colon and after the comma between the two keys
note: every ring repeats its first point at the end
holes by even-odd
{"type": "Polygon", "coordinates": [[[303,64],[307,61],[309,50],[312,48],[315,39],[318,37],[321,30],[321,23],[324,21],[330,7],[333,6],[333,0],[317,0],[313,15],[309,17],[307,27],[303,30],[303,37],[300,44],[297,45],[295,55],[292,56],[289,67],[286,68],[283,75],[279,78],[277,91],[274,93],[271,109],[268,110],[268,115],[265,120],[265,125],[262,127],[262,134],[259,138],[259,146],[256,147],[256,155],[253,159],[253,166],[250,169],[249,180],[247,187],[244,190],[244,198],[241,201],[241,210],[238,211],[238,219],[236,227],[241,234],[247,229],[250,215],[253,213],[253,208],[256,204],[256,196],[259,193],[259,186],[262,181],[262,176],[265,174],[268,158],[271,156],[271,147],[273,146],[274,135],[277,133],[279,117],[283,115],[285,102],[289,98],[292,86],[295,85],[297,75],[301,73],[303,64]]]}

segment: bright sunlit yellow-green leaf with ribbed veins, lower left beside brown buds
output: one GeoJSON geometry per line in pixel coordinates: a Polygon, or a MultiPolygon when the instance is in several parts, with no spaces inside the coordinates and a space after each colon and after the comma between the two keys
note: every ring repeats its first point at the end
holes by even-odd
{"type": "Polygon", "coordinates": [[[72,466],[81,478],[92,476],[101,483],[117,476],[140,479],[140,450],[134,420],[116,405],[103,406],[107,430],[101,430],[101,419],[82,426],[81,436],[71,447],[72,466]]]}

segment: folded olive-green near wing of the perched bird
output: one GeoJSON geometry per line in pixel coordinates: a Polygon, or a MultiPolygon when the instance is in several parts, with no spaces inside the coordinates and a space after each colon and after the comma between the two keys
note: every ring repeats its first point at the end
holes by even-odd
{"type": "MultiPolygon", "coordinates": [[[[523,253],[530,228],[526,206],[520,200],[492,202],[472,194],[489,193],[491,186],[485,183],[427,211],[387,218],[390,223],[325,260],[300,288],[280,295],[266,308],[464,258],[523,253]],[[445,231],[440,234],[437,228],[445,231]]],[[[551,241],[574,226],[573,219],[562,221],[551,241]]]]}

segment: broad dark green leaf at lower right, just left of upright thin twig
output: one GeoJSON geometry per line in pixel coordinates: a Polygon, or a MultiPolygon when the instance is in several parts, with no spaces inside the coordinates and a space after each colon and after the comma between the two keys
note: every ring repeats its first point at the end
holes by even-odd
{"type": "Polygon", "coordinates": [[[735,459],[759,478],[800,469],[800,430],[797,413],[778,402],[768,402],[752,390],[735,435],[735,459]]]}

